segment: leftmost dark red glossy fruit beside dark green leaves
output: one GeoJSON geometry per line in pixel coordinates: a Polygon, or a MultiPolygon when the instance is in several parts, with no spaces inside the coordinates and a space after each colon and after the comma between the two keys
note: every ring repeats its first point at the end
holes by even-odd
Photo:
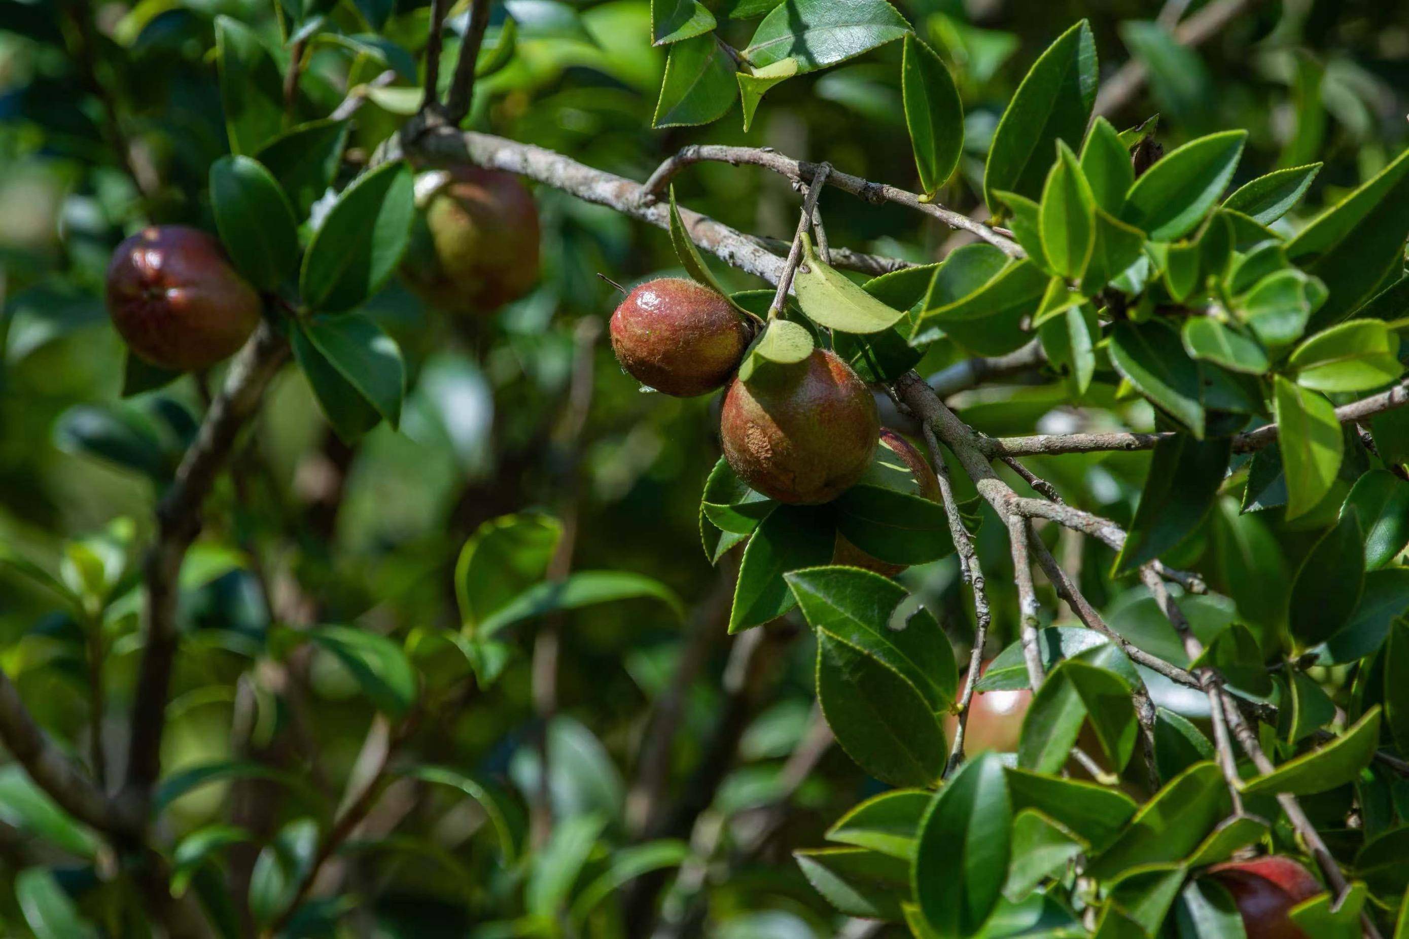
{"type": "Polygon", "coordinates": [[[220,242],[196,228],[154,225],[113,252],[107,311],[127,346],[152,365],[209,369],[259,325],[255,289],[220,242]]]}

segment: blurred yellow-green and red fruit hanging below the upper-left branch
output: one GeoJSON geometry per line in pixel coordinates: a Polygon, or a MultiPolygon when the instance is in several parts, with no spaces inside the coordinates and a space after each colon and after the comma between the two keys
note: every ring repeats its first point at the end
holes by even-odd
{"type": "Polygon", "coordinates": [[[406,286],[454,314],[493,313],[538,280],[538,207],[511,173],[457,166],[424,201],[406,286]]]}

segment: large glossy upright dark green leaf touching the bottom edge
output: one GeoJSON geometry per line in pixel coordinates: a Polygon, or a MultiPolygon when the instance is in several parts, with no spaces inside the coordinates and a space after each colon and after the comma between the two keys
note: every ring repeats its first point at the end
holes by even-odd
{"type": "Polygon", "coordinates": [[[936,936],[978,935],[998,907],[1010,856],[1007,774],[993,753],[965,763],[920,825],[912,890],[936,936]]]}

